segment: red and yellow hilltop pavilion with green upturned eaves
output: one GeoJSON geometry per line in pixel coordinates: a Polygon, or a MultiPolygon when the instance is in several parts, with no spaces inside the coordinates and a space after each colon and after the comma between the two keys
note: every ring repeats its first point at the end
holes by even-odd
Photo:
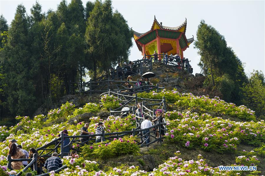
{"type": "Polygon", "coordinates": [[[194,38],[186,38],[185,32],[187,28],[187,19],[178,27],[162,26],[162,22],[158,23],[154,19],[152,28],[146,33],[138,33],[133,31],[135,43],[142,55],[153,55],[156,50],[158,54],[179,53],[183,58],[183,51],[194,41],[194,38]]]}

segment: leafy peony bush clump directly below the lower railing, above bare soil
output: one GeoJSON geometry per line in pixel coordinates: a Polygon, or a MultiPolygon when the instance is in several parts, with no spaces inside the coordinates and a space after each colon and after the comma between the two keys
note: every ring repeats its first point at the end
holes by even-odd
{"type": "Polygon", "coordinates": [[[136,154],[140,150],[135,142],[135,138],[132,136],[129,138],[114,138],[110,143],[94,143],[91,146],[84,145],[81,149],[82,155],[85,158],[93,156],[99,159],[136,154]]]}

